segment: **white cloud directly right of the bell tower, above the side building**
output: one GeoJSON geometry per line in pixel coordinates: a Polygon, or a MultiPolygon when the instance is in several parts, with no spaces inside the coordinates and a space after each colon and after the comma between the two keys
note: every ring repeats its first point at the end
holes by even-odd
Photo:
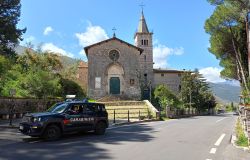
{"type": "MultiPolygon", "coordinates": [[[[157,43],[157,42],[156,42],[157,43]]],[[[169,48],[162,44],[156,44],[154,49],[154,68],[166,68],[168,66],[167,58],[170,55],[182,55],[184,48],[169,48]]]]}

